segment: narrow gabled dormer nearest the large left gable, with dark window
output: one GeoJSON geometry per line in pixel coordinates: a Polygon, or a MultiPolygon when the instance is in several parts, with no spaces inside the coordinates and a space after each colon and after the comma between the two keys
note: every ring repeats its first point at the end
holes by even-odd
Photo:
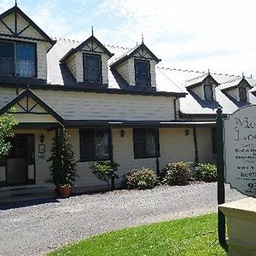
{"type": "Polygon", "coordinates": [[[77,83],[108,84],[108,59],[113,54],[93,35],[61,59],[73,73],[77,83]]]}

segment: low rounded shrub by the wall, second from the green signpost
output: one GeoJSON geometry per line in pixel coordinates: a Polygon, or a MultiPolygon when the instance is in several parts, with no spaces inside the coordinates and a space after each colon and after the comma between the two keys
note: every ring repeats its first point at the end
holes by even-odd
{"type": "Polygon", "coordinates": [[[185,185],[189,181],[189,163],[168,163],[160,174],[160,182],[166,185],[185,185]]]}

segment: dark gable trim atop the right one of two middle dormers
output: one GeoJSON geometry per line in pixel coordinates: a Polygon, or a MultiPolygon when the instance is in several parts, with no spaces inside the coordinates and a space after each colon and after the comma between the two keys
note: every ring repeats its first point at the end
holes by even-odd
{"type": "Polygon", "coordinates": [[[159,58],[156,57],[156,55],[154,55],[154,53],[150,49],[148,49],[148,47],[144,43],[142,43],[142,44],[138,45],[135,49],[129,50],[125,55],[122,55],[119,59],[113,61],[110,64],[110,67],[114,67],[118,64],[123,63],[124,61],[127,61],[128,59],[130,59],[132,56],[136,55],[137,53],[140,55],[141,58],[145,58],[146,54],[148,54],[157,63],[159,63],[161,61],[159,58]],[[143,54],[141,54],[139,52],[140,50],[142,50],[143,54]]]}

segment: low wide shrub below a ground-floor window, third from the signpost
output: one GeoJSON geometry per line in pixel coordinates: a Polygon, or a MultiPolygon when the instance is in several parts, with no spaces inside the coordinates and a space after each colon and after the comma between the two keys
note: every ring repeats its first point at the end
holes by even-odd
{"type": "Polygon", "coordinates": [[[148,168],[128,172],[123,183],[128,189],[153,189],[156,185],[156,175],[148,168]]]}

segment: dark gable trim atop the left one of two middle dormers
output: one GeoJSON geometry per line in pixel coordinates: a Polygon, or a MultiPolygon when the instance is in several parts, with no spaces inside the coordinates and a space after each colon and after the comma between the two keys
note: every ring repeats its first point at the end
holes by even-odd
{"type": "Polygon", "coordinates": [[[71,55],[74,55],[78,51],[82,50],[84,46],[89,48],[89,52],[91,53],[100,53],[100,54],[107,54],[109,58],[113,56],[113,54],[93,35],[90,38],[86,39],[82,44],[79,44],[78,47],[74,49],[70,49],[64,57],[61,58],[61,62],[66,61],[71,55]],[[92,42],[92,46],[90,46],[90,42],[92,42]],[[95,45],[94,45],[95,44],[95,45]],[[98,48],[101,48],[103,51],[97,51],[98,48]]]}

